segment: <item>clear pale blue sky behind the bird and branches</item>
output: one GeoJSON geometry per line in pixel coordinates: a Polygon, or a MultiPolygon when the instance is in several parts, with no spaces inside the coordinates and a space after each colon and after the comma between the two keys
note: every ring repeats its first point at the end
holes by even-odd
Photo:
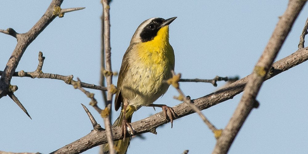
{"type": "MultiPolygon", "coordinates": [[[[27,32],[43,15],[49,1],[0,1],[0,29],[27,32]]],[[[152,17],[178,17],[170,25],[170,44],[175,51],[175,71],[182,78],[211,79],[216,75],[245,77],[263,52],[278,17],[287,1],[113,1],[111,3],[112,69],[119,71],[130,39],[141,22],[152,17]]],[[[38,53],[46,57],[43,72],[74,75],[86,83],[99,83],[100,16],[99,1],[66,0],[62,8],[86,7],[56,18],[30,44],[17,71],[34,71],[38,53]]],[[[299,36],[307,18],[307,7],[292,28],[278,59],[297,50],[299,36]]],[[[16,45],[16,39],[0,34],[0,69],[3,70],[16,45]]],[[[300,64],[266,81],[257,96],[260,107],[245,121],[229,153],[308,153],[308,63],[300,64]]],[[[116,83],[117,77],[113,78],[116,83]]],[[[103,125],[99,114],[88,105],[90,99],[63,81],[14,77],[15,95],[33,120],[9,98],[0,99],[0,150],[49,153],[87,135],[92,125],[80,103],[85,104],[103,125]]],[[[222,86],[224,82],[219,82],[222,86]]],[[[192,99],[215,90],[209,83],[180,83],[192,99]]],[[[103,106],[101,92],[95,93],[103,106]]],[[[178,95],[169,88],[156,101],[175,106],[178,95]]],[[[224,128],[241,94],[202,111],[217,127],[224,128]]],[[[161,111],[142,107],[134,115],[137,121],[161,111]]],[[[113,120],[119,115],[113,112],[113,120]]],[[[175,120],[146,133],[146,140],[134,139],[128,153],[190,154],[211,153],[216,140],[197,114],[175,120]]],[[[97,153],[98,147],[84,153],[97,153]]]]}

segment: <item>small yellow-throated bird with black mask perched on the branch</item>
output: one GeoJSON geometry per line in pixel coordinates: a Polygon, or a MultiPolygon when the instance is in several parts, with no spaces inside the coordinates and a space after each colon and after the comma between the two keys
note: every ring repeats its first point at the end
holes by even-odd
{"type": "MultiPolygon", "coordinates": [[[[131,138],[126,137],[126,132],[129,128],[129,133],[134,133],[129,123],[132,114],[142,106],[161,107],[172,128],[176,113],[167,105],[153,102],[166,93],[169,87],[166,80],[172,78],[175,56],[169,43],[169,24],[176,18],[150,18],[142,22],[124,53],[115,93],[115,110],[121,107],[121,112],[112,125],[122,126],[124,136],[114,142],[117,154],[127,152],[131,138]]],[[[103,147],[104,153],[108,153],[108,144],[103,147]]]]}

